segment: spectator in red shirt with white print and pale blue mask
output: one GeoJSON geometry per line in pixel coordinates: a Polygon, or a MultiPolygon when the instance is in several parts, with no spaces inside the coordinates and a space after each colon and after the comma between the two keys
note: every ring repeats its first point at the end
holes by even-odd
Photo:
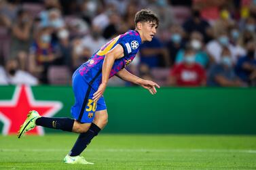
{"type": "Polygon", "coordinates": [[[170,70],[169,84],[174,86],[204,86],[206,72],[200,64],[195,62],[196,52],[191,47],[185,49],[183,62],[175,64],[170,70]]]}

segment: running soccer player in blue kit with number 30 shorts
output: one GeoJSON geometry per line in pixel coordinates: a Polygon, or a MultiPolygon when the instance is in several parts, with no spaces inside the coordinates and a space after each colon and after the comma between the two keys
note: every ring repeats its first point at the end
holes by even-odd
{"type": "Polygon", "coordinates": [[[154,95],[157,83],[132,75],[126,66],[132,62],[139,51],[141,43],[151,41],[156,35],[158,17],[148,9],[136,13],[135,30],[128,30],[103,45],[92,57],[73,73],[73,92],[75,104],[71,108],[74,119],[50,118],[40,116],[35,110],[29,112],[26,121],[20,127],[18,137],[35,126],[61,129],[79,133],[75,145],[65,156],[64,162],[69,164],[93,164],[80,156],[90,144],[93,137],[107,125],[107,107],[103,93],[110,77],[116,75],[120,79],[141,85],[154,95]]]}

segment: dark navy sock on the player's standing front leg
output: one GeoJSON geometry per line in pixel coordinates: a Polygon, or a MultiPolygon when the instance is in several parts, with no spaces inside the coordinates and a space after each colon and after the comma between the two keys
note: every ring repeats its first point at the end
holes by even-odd
{"type": "Polygon", "coordinates": [[[72,150],[69,152],[69,156],[77,156],[83,152],[86,147],[90,144],[92,138],[98,135],[100,132],[100,128],[92,123],[88,131],[86,133],[80,133],[75,145],[73,146],[72,150]]]}

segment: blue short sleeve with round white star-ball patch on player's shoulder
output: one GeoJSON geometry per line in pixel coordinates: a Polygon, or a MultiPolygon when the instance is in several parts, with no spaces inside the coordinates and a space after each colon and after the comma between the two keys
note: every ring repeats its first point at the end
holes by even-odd
{"type": "Polygon", "coordinates": [[[119,44],[122,45],[124,56],[126,56],[129,54],[136,54],[139,51],[141,41],[138,36],[128,34],[121,38],[119,44]]]}

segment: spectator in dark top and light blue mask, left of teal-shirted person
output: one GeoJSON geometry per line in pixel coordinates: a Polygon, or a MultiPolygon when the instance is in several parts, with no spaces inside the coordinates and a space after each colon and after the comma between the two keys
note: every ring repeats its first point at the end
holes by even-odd
{"type": "Polygon", "coordinates": [[[183,29],[181,26],[173,25],[170,27],[170,40],[166,42],[168,50],[170,66],[175,64],[176,56],[179,49],[185,47],[185,40],[183,39],[183,29]]]}

